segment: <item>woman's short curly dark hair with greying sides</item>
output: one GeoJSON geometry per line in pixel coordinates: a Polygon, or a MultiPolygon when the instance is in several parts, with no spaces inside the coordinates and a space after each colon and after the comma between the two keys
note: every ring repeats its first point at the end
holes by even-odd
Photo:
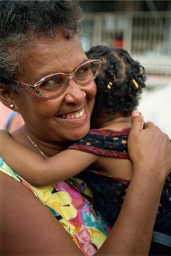
{"type": "MultiPolygon", "coordinates": [[[[0,1],[0,73],[1,81],[22,72],[23,46],[36,36],[66,38],[80,34],[84,13],[77,0],[68,1],[0,1]]],[[[8,84],[15,90],[14,84],[8,84]]]]}

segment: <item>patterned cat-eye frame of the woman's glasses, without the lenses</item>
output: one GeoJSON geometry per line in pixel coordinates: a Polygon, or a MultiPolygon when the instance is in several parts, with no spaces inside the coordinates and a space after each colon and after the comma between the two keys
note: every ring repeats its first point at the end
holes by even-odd
{"type": "MultiPolygon", "coordinates": [[[[74,80],[74,77],[75,77],[75,74],[76,72],[78,71],[79,68],[81,68],[82,66],[88,64],[88,63],[91,63],[91,62],[96,62],[97,63],[97,71],[95,72],[95,75],[93,77],[92,80],[90,80],[87,84],[90,84],[90,82],[92,82],[98,75],[99,75],[99,72],[101,70],[101,67],[102,67],[102,60],[100,59],[88,59],[87,61],[83,62],[82,64],[80,64],[72,73],[52,73],[52,74],[49,74],[47,76],[44,76],[42,79],[40,79],[39,81],[35,82],[34,85],[30,85],[30,84],[27,84],[25,82],[20,82],[18,80],[12,80],[13,82],[15,82],[16,84],[18,85],[22,85],[25,89],[29,90],[30,92],[34,93],[37,97],[41,97],[41,98],[45,98],[45,99],[49,99],[49,100],[52,100],[54,98],[48,98],[46,96],[43,96],[40,94],[39,92],[39,88],[40,88],[40,85],[43,84],[44,80],[47,79],[48,77],[51,77],[51,76],[55,76],[55,75],[65,75],[67,77],[67,82],[66,82],[66,85],[68,85],[68,81],[69,80],[74,80]]],[[[74,80],[74,82],[76,82],[74,80]]],[[[82,86],[81,84],[79,84],[79,82],[76,82],[78,85],[82,86]]],[[[86,86],[87,84],[85,84],[84,86],[86,86]]]]}

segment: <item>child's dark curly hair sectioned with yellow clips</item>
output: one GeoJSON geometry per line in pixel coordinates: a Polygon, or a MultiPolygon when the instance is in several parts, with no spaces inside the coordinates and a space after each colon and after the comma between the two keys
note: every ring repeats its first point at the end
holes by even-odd
{"type": "Polygon", "coordinates": [[[99,45],[91,47],[86,55],[102,60],[101,72],[95,79],[97,96],[93,114],[131,115],[145,87],[144,68],[124,49],[99,45]]]}

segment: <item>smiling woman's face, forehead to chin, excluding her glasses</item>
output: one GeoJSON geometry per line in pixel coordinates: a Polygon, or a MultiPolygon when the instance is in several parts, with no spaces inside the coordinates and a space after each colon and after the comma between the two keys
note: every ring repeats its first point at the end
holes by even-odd
{"type": "MultiPolygon", "coordinates": [[[[23,72],[16,80],[34,84],[42,77],[57,73],[72,73],[87,60],[80,40],[41,37],[27,46],[23,54],[23,72]]],[[[96,93],[95,82],[79,86],[69,80],[65,92],[53,100],[37,97],[21,86],[19,94],[12,94],[27,129],[45,142],[74,141],[84,137],[90,129],[90,115],[96,93]],[[78,117],[78,114],[84,114],[78,117]],[[66,118],[66,116],[68,118],[66,118]]]]}

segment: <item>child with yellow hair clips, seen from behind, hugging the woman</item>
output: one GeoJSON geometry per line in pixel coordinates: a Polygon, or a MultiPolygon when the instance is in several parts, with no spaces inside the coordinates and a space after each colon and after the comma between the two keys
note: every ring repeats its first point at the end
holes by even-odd
{"type": "MultiPolygon", "coordinates": [[[[9,135],[2,134],[4,146],[0,153],[9,166],[36,186],[69,179],[71,173],[75,176],[91,165],[89,170],[77,177],[86,181],[93,192],[94,209],[110,225],[114,225],[132,177],[127,138],[131,113],[136,109],[142,88],[145,87],[144,68],[123,49],[96,46],[87,52],[87,56],[101,59],[103,63],[96,79],[97,97],[91,120],[94,129],[72,144],[69,150],[48,159],[42,158],[45,155],[29,135],[30,143],[41,156],[16,143],[9,135]],[[13,148],[16,148],[15,152],[13,148]],[[113,202],[116,203],[115,207],[113,202]]],[[[170,214],[170,177],[165,181],[156,218],[159,231],[160,221],[170,214]]]]}

